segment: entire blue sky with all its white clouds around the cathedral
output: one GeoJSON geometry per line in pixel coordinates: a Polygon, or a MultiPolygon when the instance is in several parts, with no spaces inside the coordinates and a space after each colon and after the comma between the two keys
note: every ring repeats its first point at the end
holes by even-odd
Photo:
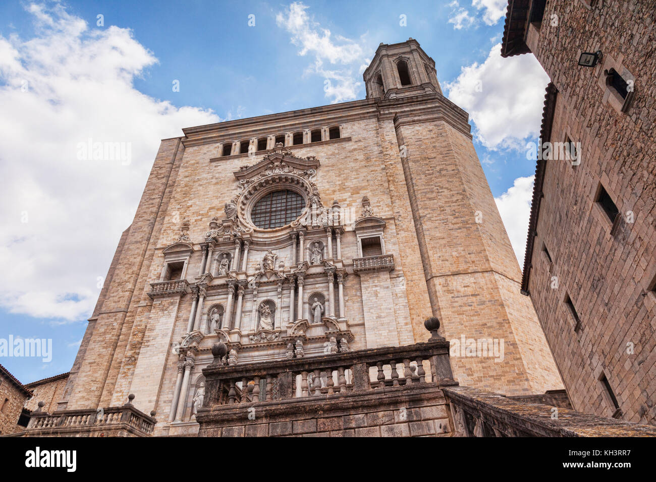
{"type": "Polygon", "coordinates": [[[70,369],[160,138],[364,98],[361,73],[380,42],[417,39],[445,95],[470,113],[521,262],[535,170],[525,144],[537,138],[548,79],[533,56],[499,55],[505,5],[3,2],[0,340],[51,338],[53,353],[0,363],[22,382],[70,369]],[[76,158],[88,138],[129,143],[130,162],[76,158]]]}

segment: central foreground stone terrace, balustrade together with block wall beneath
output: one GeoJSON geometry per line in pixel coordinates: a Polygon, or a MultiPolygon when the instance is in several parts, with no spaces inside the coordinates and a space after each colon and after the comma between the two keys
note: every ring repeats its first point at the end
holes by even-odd
{"type": "MultiPolygon", "coordinates": [[[[216,346],[215,346],[216,348],[216,346]]],[[[408,436],[451,432],[441,388],[457,386],[449,343],[203,370],[199,436],[408,436]]]]}

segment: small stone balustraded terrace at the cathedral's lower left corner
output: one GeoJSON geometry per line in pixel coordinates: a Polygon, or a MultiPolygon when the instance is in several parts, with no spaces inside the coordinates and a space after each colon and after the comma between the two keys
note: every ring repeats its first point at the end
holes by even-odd
{"type": "Polygon", "coordinates": [[[130,395],[123,407],[56,411],[39,409],[31,414],[30,423],[15,437],[150,437],[155,430],[155,412],[151,416],[138,411],[130,395]]]}

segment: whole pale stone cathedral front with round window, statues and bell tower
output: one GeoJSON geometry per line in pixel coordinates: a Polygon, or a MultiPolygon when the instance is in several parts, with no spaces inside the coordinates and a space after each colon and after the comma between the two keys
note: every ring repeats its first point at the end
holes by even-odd
{"type": "Polygon", "coordinates": [[[215,344],[228,367],[310,359],[425,342],[432,316],[447,340],[501,344],[451,351],[462,385],[562,388],[434,60],[413,39],[380,44],[364,81],[364,100],[161,141],[58,411],[133,393],[154,435],[194,433],[215,344]]]}

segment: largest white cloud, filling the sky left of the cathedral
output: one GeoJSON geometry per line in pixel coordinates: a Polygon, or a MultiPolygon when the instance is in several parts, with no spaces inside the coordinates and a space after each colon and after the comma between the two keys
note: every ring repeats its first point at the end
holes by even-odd
{"type": "Polygon", "coordinates": [[[29,5],[37,37],[0,35],[0,306],[35,317],[91,314],[132,222],[159,139],[217,122],[133,87],[153,52],[59,4],[29,5]],[[79,160],[78,144],[122,142],[131,163],[79,160]]]}

